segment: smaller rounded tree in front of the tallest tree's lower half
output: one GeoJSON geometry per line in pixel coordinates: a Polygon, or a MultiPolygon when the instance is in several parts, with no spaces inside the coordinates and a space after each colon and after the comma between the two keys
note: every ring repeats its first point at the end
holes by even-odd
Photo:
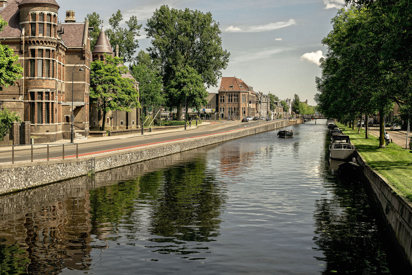
{"type": "MultiPolygon", "coordinates": [[[[206,97],[208,92],[204,86],[203,79],[197,73],[194,68],[186,66],[182,70],[178,71],[175,77],[168,83],[166,89],[169,91],[167,94],[167,104],[170,109],[185,106],[199,109],[201,106],[207,104],[206,97]],[[192,90],[190,90],[192,88],[192,90]]],[[[186,110],[187,113],[187,110],[186,110]]],[[[178,115],[178,120],[179,115],[178,115]]]]}

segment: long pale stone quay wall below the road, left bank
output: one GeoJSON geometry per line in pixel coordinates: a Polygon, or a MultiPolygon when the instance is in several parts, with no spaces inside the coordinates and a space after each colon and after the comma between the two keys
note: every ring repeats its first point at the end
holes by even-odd
{"type": "Polygon", "coordinates": [[[296,123],[296,120],[280,120],[236,131],[222,132],[190,139],[179,139],[177,141],[118,150],[111,153],[89,155],[77,159],[70,158],[66,160],[21,162],[1,165],[0,194],[12,193],[33,188],[35,186],[87,175],[89,172],[89,159],[91,157],[95,157],[94,171],[101,172],[132,163],[143,162],[157,157],[163,157],[231,139],[241,138],[259,132],[286,127],[296,123]]]}

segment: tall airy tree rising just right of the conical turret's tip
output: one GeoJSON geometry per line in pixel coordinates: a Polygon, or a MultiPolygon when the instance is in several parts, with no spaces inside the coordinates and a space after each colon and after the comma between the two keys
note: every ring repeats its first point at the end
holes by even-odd
{"type": "Polygon", "coordinates": [[[137,18],[133,15],[129,21],[125,22],[127,28],[121,28],[119,24],[122,20],[123,16],[119,9],[109,19],[109,24],[112,28],[107,30],[107,34],[112,47],[119,45],[119,56],[124,59],[124,62],[131,62],[136,49],[139,47],[138,40],[135,40],[135,37],[140,36],[139,32],[142,24],[138,25],[137,18]]]}

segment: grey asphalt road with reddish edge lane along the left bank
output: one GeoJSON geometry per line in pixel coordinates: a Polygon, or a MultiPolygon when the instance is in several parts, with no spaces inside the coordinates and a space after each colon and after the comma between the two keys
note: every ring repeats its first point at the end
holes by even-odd
{"type": "MultiPolygon", "coordinates": [[[[190,138],[194,136],[201,136],[204,134],[215,134],[218,132],[225,132],[233,129],[243,128],[244,125],[257,123],[258,121],[240,122],[230,121],[212,125],[199,125],[197,129],[191,129],[189,131],[168,132],[156,135],[143,135],[133,136],[126,139],[114,139],[107,141],[96,141],[88,143],[78,144],[78,154],[91,154],[98,153],[105,150],[115,150],[127,148],[129,146],[136,146],[146,143],[154,143],[160,141],[169,141],[174,139],[190,138]]],[[[64,146],[64,155],[66,157],[73,157],[76,155],[76,145],[70,145],[70,143],[64,146]]],[[[49,159],[58,159],[63,157],[63,146],[50,145],[49,146],[49,159]]],[[[103,153],[103,152],[102,152],[103,153]]],[[[31,149],[14,150],[14,162],[30,161],[31,149]]],[[[33,146],[33,160],[46,160],[47,148],[36,148],[33,146]]],[[[12,162],[12,150],[0,152],[0,163],[12,162]]]]}

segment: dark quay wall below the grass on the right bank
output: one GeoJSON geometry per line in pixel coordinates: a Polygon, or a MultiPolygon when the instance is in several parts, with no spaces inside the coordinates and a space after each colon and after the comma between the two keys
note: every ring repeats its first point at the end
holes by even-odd
{"type": "Polygon", "coordinates": [[[407,261],[412,265],[412,203],[403,195],[398,194],[382,175],[374,171],[357,150],[355,154],[381,206],[389,229],[398,241],[407,261]]]}

